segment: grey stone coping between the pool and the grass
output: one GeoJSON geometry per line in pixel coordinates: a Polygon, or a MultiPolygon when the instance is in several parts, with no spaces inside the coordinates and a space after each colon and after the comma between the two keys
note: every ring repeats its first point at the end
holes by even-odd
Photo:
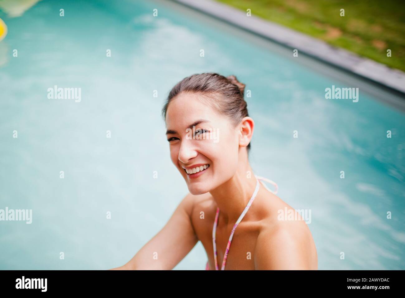
{"type": "Polygon", "coordinates": [[[213,0],[172,0],[405,95],[405,73],[213,0]]]}

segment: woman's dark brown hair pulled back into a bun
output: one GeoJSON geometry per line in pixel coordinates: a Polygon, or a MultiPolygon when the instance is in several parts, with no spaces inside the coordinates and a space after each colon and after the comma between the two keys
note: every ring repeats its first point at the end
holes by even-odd
{"type": "MultiPolygon", "coordinates": [[[[220,114],[227,116],[233,127],[236,127],[247,113],[247,103],[243,99],[245,84],[234,75],[224,77],[217,73],[201,73],[190,75],[179,81],[169,92],[167,101],[162,108],[162,116],[166,120],[169,103],[182,92],[200,94],[220,114]]],[[[247,152],[250,143],[247,145],[247,152]]]]}

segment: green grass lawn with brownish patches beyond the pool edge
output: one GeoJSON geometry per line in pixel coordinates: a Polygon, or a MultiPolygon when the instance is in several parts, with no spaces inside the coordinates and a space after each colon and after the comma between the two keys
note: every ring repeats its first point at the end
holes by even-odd
{"type": "Polygon", "coordinates": [[[399,0],[216,0],[405,71],[405,9],[399,0]],[[340,9],[345,16],[340,16],[340,9]],[[391,57],[387,57],[387,49],[391,57]]]}

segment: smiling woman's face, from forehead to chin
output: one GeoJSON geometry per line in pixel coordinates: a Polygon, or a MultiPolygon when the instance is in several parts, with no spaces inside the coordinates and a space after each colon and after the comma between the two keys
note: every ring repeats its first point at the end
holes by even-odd
{"type": "Polygon", "coordinates": [[[197,96],[179,94],[166,111],[170,157],[193,195],[207,193],[232,178],[239,152],[239,131],[197,96]]]}

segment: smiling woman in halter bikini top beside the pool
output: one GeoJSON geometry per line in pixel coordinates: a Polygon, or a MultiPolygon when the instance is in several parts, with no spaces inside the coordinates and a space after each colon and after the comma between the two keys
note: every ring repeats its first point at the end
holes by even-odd
{"type": "Polygon", "coordinates": [[[207,270],[318,269],[307,224],[278,220],[294,209],[260,184],[249,165],[255,124],[244,88],[235,76],[217,73],[191,75],[173,87],[162,115],[171,160],[190,193],[156,236],[111,270],[171,270],[198,240],[207,270]]]}

